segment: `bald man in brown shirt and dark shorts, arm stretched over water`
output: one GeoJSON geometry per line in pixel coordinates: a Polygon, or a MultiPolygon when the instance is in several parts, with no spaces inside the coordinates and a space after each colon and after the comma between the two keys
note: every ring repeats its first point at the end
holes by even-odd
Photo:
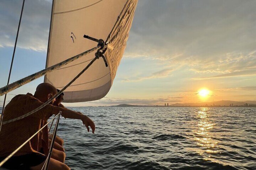
{"type": "MultiPolygon", "coordinates": [[[[3,121],[14,119],[36,109],[55,94],[57,94],[57,90],[54,86],[49,83],[41,83],[37,86],[34,96],[30,93],[15,96],[5,107],[3,121]]],[[[51,104],[53,104],[53,102],[54,100],[51,104]]],[[[72,110],[53,106],[51,104],[47,104],[30,116],[2,125],[0,132],[0,161],[37,132],[50,116],[58,114],[59,111],[62,111],[62,116],[65,118],[82,120],[87,130],[89,131],[90,126],[92,133],[94,133],[95,125],[90,118],[72,110]]],[[[41,169],[46,160],[45,154],[49,151],[49,142],[47,148],[47,138],[44,138],[47,127],[45,129],[40,131],[34,138],[25,144],[24,147],[15,153],[3,167],[8,169],[41,169]],[[44,154],[42,154],[42,152],[44,154]]],[[[50,158],[48,169],[69,170],[70,168],[61,161],[50,158]]]]}

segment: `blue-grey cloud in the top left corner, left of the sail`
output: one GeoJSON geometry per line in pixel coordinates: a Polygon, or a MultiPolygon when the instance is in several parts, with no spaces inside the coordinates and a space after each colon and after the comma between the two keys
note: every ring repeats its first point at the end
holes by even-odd
{"type": "MultiPolygon", "coordinates": [[[[22,1],[0,2],[0,47],[14,46],[22,1]]],[[[35,51],[46,51],[50,28],[51,2],[26,0],[17,46],[35,51]]]]}

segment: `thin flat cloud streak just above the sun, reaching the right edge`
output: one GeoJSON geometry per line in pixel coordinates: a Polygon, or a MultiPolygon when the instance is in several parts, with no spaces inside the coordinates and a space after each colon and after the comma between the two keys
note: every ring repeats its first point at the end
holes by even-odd
{"type": "Polygon", "coordinates": [[[232,73],[220,74],[212,77],[196,78],[196,79],[215,79],[215,78],[226,78],[226,77],[234,77],[234,76],[254,76],[254,75],[256,75],[256,70],[243,70],[243,71],[235,71],[232,73]]]}

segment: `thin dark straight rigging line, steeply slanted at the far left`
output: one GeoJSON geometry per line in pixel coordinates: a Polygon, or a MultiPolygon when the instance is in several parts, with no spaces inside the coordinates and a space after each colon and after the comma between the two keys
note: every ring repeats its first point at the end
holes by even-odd
{"type": "MultiPolygon", "coordinates": [[[[16,51],[16,46],[17,46],[18,36],[19,36],[19,32],[20,32],[21,18],[22,18],[22,14],[23,14],[24,4],[25,4],[25,0],[23,0],[23,3],[22,3],[21,16],[20,16],[20,21],[19,21],[19,25],[18,25],[17,35],[16,35],[16,39],[15,39],[15,44],[14,44],[13,54],[12,54],[12,58],[11,58],[11,66],[10,66],[10,71],[9,71],[9,76],[8,76],[7,85],[8,85],[8,84],[9,84],[9,82],[10,82],[11,70],[12,70],[12,65],[13,65],[14,55],[15,55],[15,51],[16,51]]],[[[5,101],[6,101],[6,94],[5,94],[4,103],[3,103],[3,108],[2,108],[2,116],[1,116],[1,118],[0,118],[0,131],[1,131],[2,122],[3,122],[4,108],[5,108],[5,101]]]]}

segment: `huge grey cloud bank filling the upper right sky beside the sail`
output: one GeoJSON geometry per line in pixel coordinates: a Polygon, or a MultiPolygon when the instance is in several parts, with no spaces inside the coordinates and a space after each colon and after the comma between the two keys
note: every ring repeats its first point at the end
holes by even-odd
{"type": "Polygon", "coordinates": [[[230,73],[256,68],[256,1],[139,1],[125,52],[175,69],[230,73]]]}

